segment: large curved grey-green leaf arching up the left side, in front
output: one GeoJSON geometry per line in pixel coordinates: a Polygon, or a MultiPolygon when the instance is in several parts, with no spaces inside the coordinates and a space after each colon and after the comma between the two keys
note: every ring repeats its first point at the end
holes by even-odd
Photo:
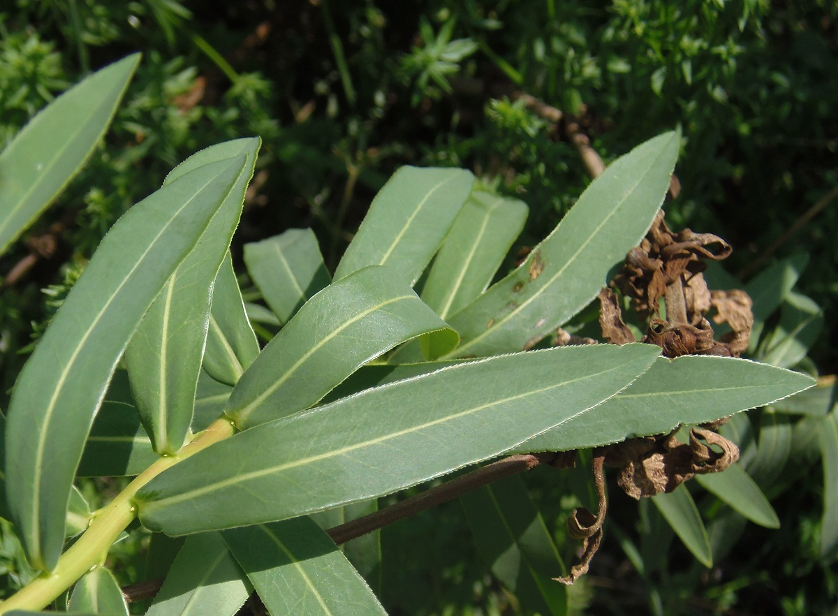
{"type": "Polygon", "coordinates": [[[70,485],[116,362],[245,162],[206,165],[128,210],[23,366],[9,404],[6,488],[35,567],[51,570],[58,561],[70,485]]]}

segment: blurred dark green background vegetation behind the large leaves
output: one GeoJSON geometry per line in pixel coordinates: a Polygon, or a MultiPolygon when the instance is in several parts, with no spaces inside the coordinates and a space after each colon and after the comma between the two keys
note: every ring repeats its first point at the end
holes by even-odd
{"type": "MultiPolygon", "coordinates": [[[[246,135],[260,135],[263,147],[236,265],[242,242],[311,226],[334,268],[372,195],[403,164],[470,168],[487,188],[525,200],[525,246],[587,184],[568,124],[606,162],[680,126],[670,226],[725,238],[735,249],[725,267],[742,272],[742,282],[783,257],[808,256],[797,289],[826,318],[820,335],[809,329],[802,367],[838,369],[838,210],[830,201],[838,186],[838,6],[829,0],[18,0],[0,13],[0,36],[0,148],[81,76],[143,52],[101,148],[0,260],[3,408],[27,348],[114,220],[190,153],[246,135]],[[521,95],[561,110],[559,125],[521,95]]],[[[790,434],[799,422],[783,417],[790,434]]],[[[574,587],[577,607],[832,613],[838,567],[818,548],[824,484],[817,453],[800,443],[760,482],[781,530],[748,525],[737,543],[714,544],[711,570],[670,545],[654,511],[619,501],[624,513],[612,520],[592,576],[574,587]]],[[[574,487],[580,480],[557,482],[540,469],[526,478],[567,554],[564,520],[579,502],[573,494],[585,493],[574,487]]],[[[92,496],[102,486],[90,488],[92,496]]],[[[700,505],[706,519],[724,522],[716,500],[700,505]]],[[[3,532],[0,562],[25,577],[3,532]]],[[[392,526],[382,541],[380,588],[391,614],[519,608],[473,551],[457,503],[392,526]]],[[[134,578],[143,546],[121,549],[116,571],[134,578]]]]}

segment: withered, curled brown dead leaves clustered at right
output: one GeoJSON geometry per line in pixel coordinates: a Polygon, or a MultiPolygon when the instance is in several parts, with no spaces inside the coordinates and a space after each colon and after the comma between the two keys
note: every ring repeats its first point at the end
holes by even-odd
{"type": "MultiPolygon", "coordinates": [[[[637,317],[647,323],[640,342],[657,344],[665,357],[740,355],[747,349],[753,328],[751,298],[738,289],[711,291],[701,273],[706,259],[719,261],[731,251],[726,241],[710,233],[689,229],[673,232],[660,211],[640,246],[629,251],[612,288],[599,293],[603,338],[612,344],[636,342],[623,320],[622,295],[629,298],[637,317]],[[720,339],[715,339],[707,319],[711,311],[712,321],[727,329],[720,339]]],[[[560,329],[555,344],[592,342],[560,329]]],[[[581,562],[572,567],[570,575],[556,580],[570,584],[587,572],[602,539],[606,512],[603,463],[620,468],[617,483],[634,499],[671,492],[696,474],[718,473],[737,461],[737,446],[715,432],[722,423],[692,428],[689,443],[680,443],[675,430],[598,448],[592,468],[599,497],[597,515],[584,507],[573,511],[567,530],[584,542],[581,562]]]]}

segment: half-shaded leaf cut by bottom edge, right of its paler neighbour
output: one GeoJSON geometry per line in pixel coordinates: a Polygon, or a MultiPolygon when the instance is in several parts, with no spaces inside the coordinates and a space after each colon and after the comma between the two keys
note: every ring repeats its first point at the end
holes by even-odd
{"type": "Polygon", "coordinates": [[[307,517],[224,531],[269,613],[385,614],[338,546],[307,517]]]}

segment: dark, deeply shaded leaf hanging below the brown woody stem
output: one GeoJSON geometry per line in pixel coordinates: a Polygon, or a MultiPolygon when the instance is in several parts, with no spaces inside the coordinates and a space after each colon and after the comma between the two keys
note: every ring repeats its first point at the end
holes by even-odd
{"type": "Polygon", "coordinates": [[[567,613],[566,586],[553,579],[566,574],[564,563],[521,479],[463,494],[460,503],[480,555],[527,613],[567,613]]]}

